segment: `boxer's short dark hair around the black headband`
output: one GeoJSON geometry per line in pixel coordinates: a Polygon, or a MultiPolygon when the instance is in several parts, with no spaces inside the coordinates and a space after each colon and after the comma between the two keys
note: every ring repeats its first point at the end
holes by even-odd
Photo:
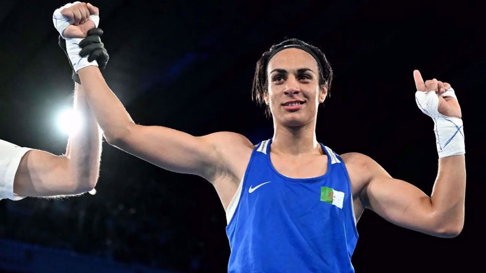
{"type": "Polygon", "coordinates": [[[300,45],[307,47],[319,58],[319,61],[322,65],[322,69],[319,68],[319,89],[322,90],[324,86],[327,85],[328,96],[330,96],[329,89],[332,82],[332,69],[330,63],[326,58],[326,55],[324,55],[324,53],[322,53],[322,51],[317,47],[308,44],[302,40],[295,38],[287,39],[281,43],[274,44],[268,51],[263,53],[263,55],[261,55],[260,59],[257,62],[257,67],[255,68],[255,76],[253,77],[253,87],[251,91],[252,99],[256,100],[258,104],[266,106],[265,114],[267,117],[270,117],[272,115],[272,113],[270,112],[270,107],[265,104],[265,100],[263,99],[263,94],[268,92],[267,65],[269,58],[274,53],[274,51],[285,45],[300,45]]]}

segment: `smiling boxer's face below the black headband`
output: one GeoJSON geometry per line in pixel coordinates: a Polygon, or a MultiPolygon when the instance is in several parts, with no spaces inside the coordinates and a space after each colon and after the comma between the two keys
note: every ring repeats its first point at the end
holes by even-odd
{"type": "Polygon", "coordinates": [[[275,121],[294,127],[315,119],[327,88],[319,89],[317,62],[312,55],[296,48],[284,49],[268,63],[267,77],[264,99],[275,121]],[[295,100],[297,105],[286,104],[295,100]]]}

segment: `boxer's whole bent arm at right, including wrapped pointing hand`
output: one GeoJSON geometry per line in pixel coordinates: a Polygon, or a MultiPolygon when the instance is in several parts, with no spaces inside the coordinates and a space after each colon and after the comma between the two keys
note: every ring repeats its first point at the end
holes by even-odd
{"type": "Polygon", "coordinates": [[[434,121],[439,168],[431,197],[412,184],[393,179],[380,165],[362,156],[367,177],[362,202],[399,226],[438,237],[455,237],[464,226],[466,164],[461,108],[448,83],[423,81],[414,71],[419,109],[434,121]]]}

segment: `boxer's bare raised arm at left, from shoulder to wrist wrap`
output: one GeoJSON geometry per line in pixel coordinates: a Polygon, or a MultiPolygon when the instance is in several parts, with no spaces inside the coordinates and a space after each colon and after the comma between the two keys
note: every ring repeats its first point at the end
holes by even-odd
{"type": "Polygon", "coordinates": [[[98,67],[88,66],[78,74],[106,141],[159,167],[196,174],[212,182],[218,170],[226,168],[219,144],[228,141],[228,137],[233,142],[240,138],[242,143],[249,143],[230,132],[195,137],[167,127],[137,125],[106,85],[98,67]]]}

